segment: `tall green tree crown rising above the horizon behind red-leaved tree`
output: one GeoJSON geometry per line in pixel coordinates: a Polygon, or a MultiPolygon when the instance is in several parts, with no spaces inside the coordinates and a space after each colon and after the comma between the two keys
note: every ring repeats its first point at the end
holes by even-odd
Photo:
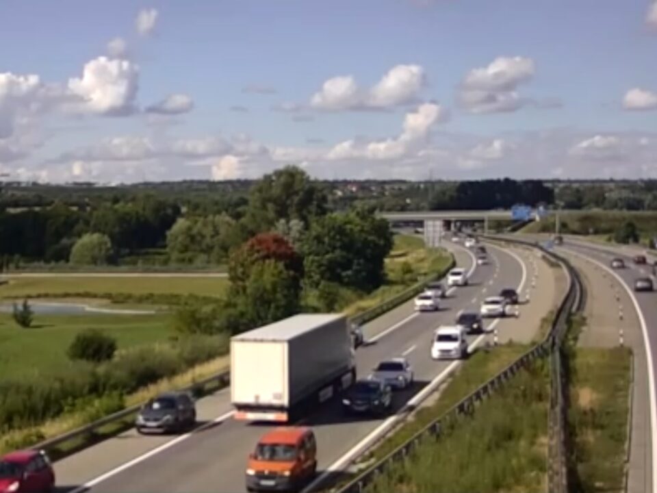
{"type": "Polygon", "coordinates": [[[248,224],[255,232],[266,231],[280,219],[301,220],[326,214],[326,193],[312,184],[307,173],[296,166],[264,175],[249,192],[248,224]]]}

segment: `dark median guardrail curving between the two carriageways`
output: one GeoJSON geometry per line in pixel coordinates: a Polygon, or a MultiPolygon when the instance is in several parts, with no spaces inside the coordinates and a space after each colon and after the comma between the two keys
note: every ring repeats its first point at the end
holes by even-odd
{"type": "MultiPolygon", "coordinates": [[[[500,238],[490,237],[490,236],[480,236],[487,240],[500,240],[500,238]]],[[[449,429],[460,416],[471,414],[474,411],[474,407],[480,402],[482,402],[487,396],[494,392],[501,385],[504,385],[508,379],[511,379],[516,375],[522,368],[531,364],[534,359],[539,357],[545,357],[547,355],[558,353],[559,351],[554,351],[558,349],[561,345],[563,337],[567,331],[568,318],[570,314],[574,311],[577,311],[581,308],[582,305],[582,295],[579,290],[581,289],[580,279],[574,268],[570,263],[565,260],[565,258],[557,255],[554,252],[543,249],[539,244],[534,244],[532,242],[527,242],[524,240],[510,240],[502,239],[504,242],[515,243],[515,244],[524,244],[526,246],[534,247],[543,252],[543,254],[552,257],[554,260],[559,262],[564,266],[568,275],[569,275],[569,286],[568,290],[559,305],[557,312],[554,316],[554,322],[552,323],[552,329],[548,336],[546,336],[543,342],[540,342],[534,346],[530,351],[519,357],[515,362],[504,368],[498,375],[491,378],[489,381],[481,385],[474,392],[465,397],[456,405],[452,406],[443,416],[437,418],[433,422],[430,422],[424,429],[418,431],[413,435],[407,442],[398,446],[394,451],[391,451],[388,455],[383,457],[381,460],[370,466],[364,472],[361,472],[355,479],[352,479],[349,483],[342,486],[337,490],[338,493],[362,493],[363,490],[388,468],[389,465],[394,464],[404,457],[407,457],[417,446],[425,440],[426,438],[433,437],[438,438],[441,435],[443,428],[449,429]]],[[[554,362],[553,362],[554,364],[554,362]]],[[[554,379],[553,379],[554,380],[554,379]]],[[[556,416],[555,425],[560,427],[560,433],[557,433],[556,439],[551,440],[554,442],[554,445],[551,443],[550,447],[550,468],[548,468],[548,491],[550,493],[566,493],[567,490],[567,468],[566,468],[566,433],[565,426],[563,425],[563,416],[565,413],[565,405],[561,396],[563,396],[563,390],[565,390],[565,385],[561,378],[557,381],[558,383],[553,383],[552,385],[557,385],[554,387],[554,400],[551,402],[551,416],[553,414],[556,416]],[[561,389],[561,391],[559,391],[561,389]]]]}

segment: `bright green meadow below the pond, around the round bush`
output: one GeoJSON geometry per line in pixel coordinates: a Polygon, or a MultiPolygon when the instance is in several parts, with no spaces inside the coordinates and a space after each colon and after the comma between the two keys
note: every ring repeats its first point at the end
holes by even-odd
{"type": "Polygon", "coordinates": [[[166,340],[171,335],[168,315],[37,315],[34,327],[18,327],[0,314],[0,375],[21,377],[34,371],[47,375],[68,365],[66,349],[82,329],[102,329],[116,338],[119,349],[166,340]]]}

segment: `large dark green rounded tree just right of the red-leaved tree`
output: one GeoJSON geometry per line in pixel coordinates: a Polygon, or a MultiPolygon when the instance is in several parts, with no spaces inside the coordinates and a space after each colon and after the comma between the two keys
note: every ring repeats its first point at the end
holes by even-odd
{"type": "Polygon", "coordinates": [[[371,291],[385,281],[385,257],[393,246],[387,220],[366,210],[316,220],[303,242],[305,280],[371,291]]]}

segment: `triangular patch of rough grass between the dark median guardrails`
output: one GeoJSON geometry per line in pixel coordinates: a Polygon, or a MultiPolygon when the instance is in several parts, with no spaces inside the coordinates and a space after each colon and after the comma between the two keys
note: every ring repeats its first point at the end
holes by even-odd
{"type": "Polygon", "coordinates": [[[545,360],[535,362],[437,440],[420,442],[365,492],[544,491],[549,382],[545,360]]]}

